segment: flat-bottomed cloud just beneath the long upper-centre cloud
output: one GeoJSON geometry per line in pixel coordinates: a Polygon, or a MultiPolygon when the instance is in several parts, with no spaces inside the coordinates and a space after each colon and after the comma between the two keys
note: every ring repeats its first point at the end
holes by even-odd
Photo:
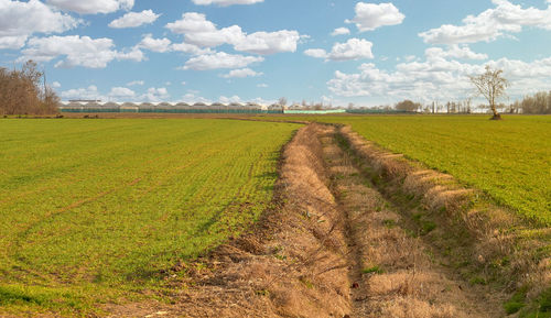
{"type": "Polygon", "coordinates": [[[244,56],[217,52],[190,58],[183,69],[207,70],[217,68],[244,68],[249,64],[262,62],[260,56],[244,56]]]}

